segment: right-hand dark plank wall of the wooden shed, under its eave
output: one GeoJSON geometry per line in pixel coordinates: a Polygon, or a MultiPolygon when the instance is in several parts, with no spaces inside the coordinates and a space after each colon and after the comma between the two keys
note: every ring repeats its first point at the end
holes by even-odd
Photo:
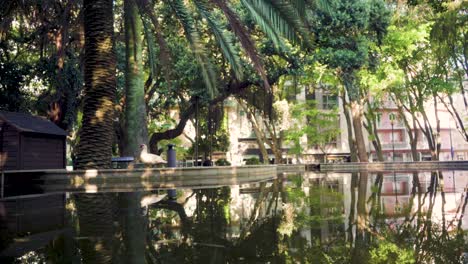
{"type": "Polygon", "coordinates": [[[37,134],[22,136],[22,169],[62,169],[64,139],[37,134]]]}

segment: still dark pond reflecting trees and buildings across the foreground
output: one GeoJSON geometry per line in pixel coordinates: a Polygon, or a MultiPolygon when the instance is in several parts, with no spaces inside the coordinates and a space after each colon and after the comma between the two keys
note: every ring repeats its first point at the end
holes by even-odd
{"type": "Polygon", "coordinates": [[[0,203],[1,263],[466,263],[468,171],[0,203]],[[169,193],[169,196],[168,196],[169,193]]]}

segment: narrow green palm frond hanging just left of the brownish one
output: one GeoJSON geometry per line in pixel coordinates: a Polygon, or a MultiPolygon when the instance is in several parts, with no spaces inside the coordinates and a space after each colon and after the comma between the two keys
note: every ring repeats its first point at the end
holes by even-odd
{"type": "Polygon", "coordinates": [[[242,70],[241,59],[234,45],[232,44],[231,37],[227,35],[226,31],[222,30],[222,26],[209,13],[205,3],[201,1],[194,1],[194,4],[197,7],[200,15],[207,21],[221,48],[221,51],[223,52],[224,57],[229,61],[231,69],[234,72],[236,78],[238,80],[242,80],[244,73],[242,70]]]}

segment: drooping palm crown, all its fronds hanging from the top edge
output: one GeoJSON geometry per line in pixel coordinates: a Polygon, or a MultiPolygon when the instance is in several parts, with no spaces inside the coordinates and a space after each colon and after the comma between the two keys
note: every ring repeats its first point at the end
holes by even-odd
{"type": "MultiPolygon", "coordinates": [[[[157,43],[159,44],[161,68],[166,72],[165,76],[170,76],[170,74],[167,74],[168,69],[171,68],[170,65],[167,65],[168,62],[170,63],[170,60],[167,59],[170,55],[168,55],[169,52],[165,44],[161,26],[159,25],[160,22],[155,14],[155,2],[156,1],[151,4],[148,0],[137,0],[140,12],[148,17],[153,24],[153,30],[155,31],[157,43]],[[164,55],[165,58],[162,58],[164,55]]],[[[213,67],[210,65],[210,60],[204,49],[200,34],[196,29],[196,25],[206,25],[209,32],[213,34],[226,61],[229,62],[230,70],[234,78],[242,82],[245,80],[245,77],[240,63],[242,61],[241,54],[239,54],[235,45],[233,45],[229,32],[234,33],[246,57],[250,59],[254,69],[263,80],[263,87],[268,92],[271,92],[266,71],[262,59],[257,53],[255,42],[250,37],[249,30],[236,12],[237,9],[233,8],[228,2],[229,1],[225,0],[175,0],[162,2],[162,5],[168,6],[180,22],[184,35],[188,39],[200,66],[200,72],[207,89],[207,94],[209,94],[211,98],[219,92],[218,84],[216,83],[218,78],[213,67]],[[213,15],[217,11],[222,12],[225,21],[213,15]],[[195,15],[193,15],[194,12],[196,13],[195,15]]],[[[321,3],[322,1],[318,2],[321,3]]],[[[242,0],[240,3],[243,8],[249,12],[259,28],[274,43],[277,49],[286,49],[285,39],[293,44],[301,44],[304,47],[311,46],[312,38],[307,29],[305,19],[305,10],[311,8],[313,5],[311,1],[242,0]]],[[[146,34],[149,40],[151,36],[148,36],[148,32],[146,32],[146,34]]],[[[154,47],[152,48],[151,44],[148,43],[149,58],[156,57],[155,55],[151,55],[153,50],[155,50],[154,47]]],[[[150,64],[154,63],[151,59],[149,62],[150,64]]],[[[151,68],[154,69],[156,67],[151,66],[151,68]]],[[[153,73],[151,73],[151,75],[152,74],[153,73]]],[[[151,77],[152,76],[150,76],[150,78],[151,77]]],[[[170,80],[166,81],[169,82],[170,80]]],[[[153,142],[153,140],[150,140],[150,143],[153,142]]],[[[150,144],[150,148],[153,151],[155,150],[152,144],[150,144]]]]}

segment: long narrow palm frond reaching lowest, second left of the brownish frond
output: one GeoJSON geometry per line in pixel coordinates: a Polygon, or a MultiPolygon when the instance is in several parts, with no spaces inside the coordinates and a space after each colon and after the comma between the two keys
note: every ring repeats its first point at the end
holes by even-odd
{"type": "Polygon", "coordinates": [[[206,52],[200,41],[198,31],[194,27],[195,21],[190,15],[190,12],[185,6],[183,0],[169,1],[168,3],[174,10],[174,13],[176,14],[177,18],[182,24],[182,27],[184,28],[185,37],[188,39],[192,48],[192,52],[194,53],[195,58],[200,66],[207,91],[210,97],[213,98],[215,93],[217,92],[217,78],[213,70],[213,66],[211,65],[208,57],[206,56],[206,52]]]}

